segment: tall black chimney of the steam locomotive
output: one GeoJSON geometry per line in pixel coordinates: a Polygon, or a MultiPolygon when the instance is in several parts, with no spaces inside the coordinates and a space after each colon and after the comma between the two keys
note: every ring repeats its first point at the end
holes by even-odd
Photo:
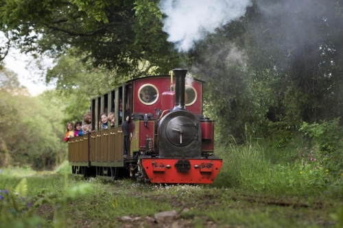
{"type": "Polygon", "coordinates": [[[187,74],[186,69],[174,69],[175,77],[175,106],[173,111],[186,110],[185,107],[185,78],[187,74]]]}

